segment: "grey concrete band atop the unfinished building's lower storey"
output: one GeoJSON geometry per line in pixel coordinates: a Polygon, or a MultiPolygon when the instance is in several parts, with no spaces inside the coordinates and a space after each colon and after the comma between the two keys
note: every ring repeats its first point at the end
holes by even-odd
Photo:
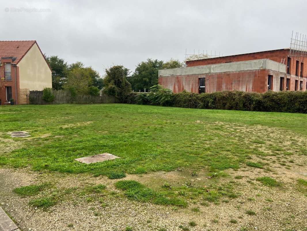
{"type": "Polygon", "coordinates": [[[159,77],[174,76],[174,75],[195,75],[208,73],[221,73],[233,71],[249,71],[269,69],[286,73],[286,65],[272,61],[270,59],[256,59],[232,63],[220,63],[212,65],[202,65],[195,67],[180,67],[173,69],[159,70],[159,77]]]}

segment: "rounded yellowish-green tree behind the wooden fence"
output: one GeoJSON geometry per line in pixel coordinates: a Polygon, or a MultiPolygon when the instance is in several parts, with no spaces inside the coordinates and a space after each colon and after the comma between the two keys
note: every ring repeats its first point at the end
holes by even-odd
{"type": "Polygon", "coordinates": [[[73,68],[69,71],[64,89],[69,90],[72,96],[88,94],[88,87],[92,85],[91,76],[86,68],[73,68]]]}

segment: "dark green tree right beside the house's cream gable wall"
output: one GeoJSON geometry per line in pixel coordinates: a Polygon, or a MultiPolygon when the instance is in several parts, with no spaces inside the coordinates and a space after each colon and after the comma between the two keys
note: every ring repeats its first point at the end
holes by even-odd
{"type": "Polygon", "coordinates": [[[56,90],[62,89],[68,74],[67,62],[64,59],[60,59],[57,55],[45,57],[52,69],[52,88],[56,90]]]}

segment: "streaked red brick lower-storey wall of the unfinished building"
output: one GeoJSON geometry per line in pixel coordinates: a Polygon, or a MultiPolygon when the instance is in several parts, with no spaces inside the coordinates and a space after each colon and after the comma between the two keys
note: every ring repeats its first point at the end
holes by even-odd
{"type": "Polygon", "coordinates": [[[306,90],[306,78],[299,78],[294,75],[286,75],[278,71],[267,69],[252,70],[252,71],[235,71],[222,72],[211,74],[196,74],[196,75],[177,75],[159,77],[159,84],[178,93],[183,90],[198,93],[199,78],[206,78],[205,91],[247,91],[247,92],[265,92],[267,91],[268,75],[273,75],[272,91],[280,90],[280,77],[284,77],[284,89],[286,90],[286,79],[290,78],[290,89],[295,89],[295,79],[303,81],[303,90],[306,90]]]}

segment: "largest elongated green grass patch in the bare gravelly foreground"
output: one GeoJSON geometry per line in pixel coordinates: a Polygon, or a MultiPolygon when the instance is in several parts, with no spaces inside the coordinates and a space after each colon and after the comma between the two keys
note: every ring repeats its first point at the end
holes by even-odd
{"type": "Polygon", "coordinates": [[[122,189],[125,196],[141,202],[151,202],[157,205],[175,205],[180,207],[187,207],[187,202],[177,197],[166,197],[151,188],[140,184],[135,180],[121,180],[115,183],[115,187],[122,189]]]}

